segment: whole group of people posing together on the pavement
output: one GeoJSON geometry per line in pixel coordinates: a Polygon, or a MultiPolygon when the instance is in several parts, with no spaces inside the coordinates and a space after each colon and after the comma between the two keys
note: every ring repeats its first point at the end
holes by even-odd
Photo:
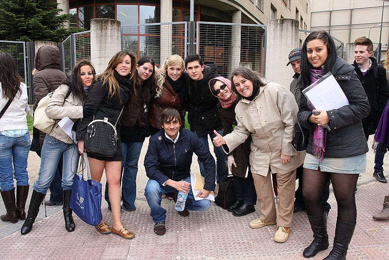
{"type": "MultiPolygon", "coordinates": [[[[258,200],[261,214],[248,223],[249,227],[277,225],[274,241],[284,242],[291,231],[293,213],[305,209],[314,240],[304,249],[303,256],[313,257],[329,246],[327,216],[331,206],[327,199],[331,180],[338,210],[334,245],[326,259],[345,259],[356,224],[354,190],[358,175],[366,171],[368,135],[377,127],[382,133],[374,137],[376,157],[382,154],[383,158],[388,141],[383,137],[388,131],[386,124],[378,121],[382,114],[381,121],[387,122],[385,116],[389,115],[389,109],[386,111],[382,102],[377,105],[376,101],[383,98],[385,91],[388,95],[388,83],[384,80],[379,83],[377,89],[383,94],[376,96],[369,89],[370,85],[360,80],[362,76],[367,77],[369,71],[373,74],[377,64],[369,58],[371,55],[364,59],[364,49],[358,47],[364,44],[355,44],[353,67],[336,56],[335,43],[327,32],[311,33],[301,49],[289,54],[287,65],[291,64],[296,73],[290,91],[245,67],[235,68],[230,78],[222,77],[217,74],[214,62],[203,62],[198,55],[189,55],[185,60],[178,55],[169,56],[159,69],[151,57],[137,60],[133,53],[126,51],[115,54],[106,70],[97,76],[92,64],[82,60],[74,66],[69,79],[61,78],[60,73],[54,78],[54,72],[45,73],[45,70],[59,71],[53,65],[59,65],[58,48],[41,47],[38,62],[35,62],[40,70],[34,77],[34,91],[37,96],[41,93],[40,98],[53,92],[45,111],[56,123],[45,135],[42,145],[39,144],[42,134],[34,131],[41,167],[27,216],[24,205],[29,189],[26,167],[30,136],[26,122],[26,87],[17,75],[15,61],[9,54],[2,53],[0,107],[5,108],[8,101],[12,102],[0,118],[0,185],[7,209],[1,220],[12,223],[18,218],[25,220],[21,234],[29,233],[39,205],[53,180],[59,176],[65,228],[72,232],[75,223],[69,206],[70,194],[79,157],[88,152],[84,148],[86,130],[92,120],[108,118],[112,125],[120,122],[117,154],[103,157],[88,152],[91,178],[100,182],[105,169],[105,199],[112,212],[112,225],[103,218],[96,225],[98,232],[118,234],[125,239],[135,237],[122,224],[121,209],[136,210],[138,161],[143,142],[151,135],[144,158],[146,175],[150,179],[144,195],[157,235],[166,233],[162,198],[172,196],[176,200],[178,192],[188,193],[185,209],[179,212],[184,217],[189,216],[189,210],[206,210],[211,206],[206,198],[215,189],[215,181],[219,183],[230,168],[234,175],[236,203],[227,210],[233,216],[245,216],[255,212],[254,205],[258,200]],[[49,66],[42,66],[42,59],[49,57],[56,60],[49,62],[49,66]],[[370,65],[365,68],[367,60],[370,65]],[[4,64],[7,64],[6,69],[4,64]],[[301,91],[329,72],[350,104],[313,113],[312,104],[301,91]],[[371,115],[373,109],[381,114],[371,115]],[[190,130],[183,128],[185,111],[188,111],[190,130]],[[368,130],[365,130],[365,118],[369,116],[375,121],[371,124],[369,121],[368,130]],[[58,126],[58,121],[65,117],[74,121],[77,144],[58,126]],[[15,124],[15,118],[18,124],[15,124]],[[292,147],[297,123],[309,132],[306,152],[298,152],[292,147]],[[208,136],[213,143],[216,162],[209,150],[208,136]],[[205,185],[197,195],[190,188],[193,153],[197,155],[201,175],[205,177],[205,185]],[[14,166],[10,158],[14,159],[14,166]],[[279,196],[277,210],[272,174],[279,196]],[[297,178],[300,192],[295,193],[297,178]]],[[[369,53],[370,45],[366,48],[369,53]]],[[[388,97],[383,102],[387,100],[388,97]]],[[[377,180],[383,182],[385,176],[381,168],[377,166],[374,177],[377,175],[377,180]]],[[[61,199],[50,201],[57,203],[61,199]]]]}

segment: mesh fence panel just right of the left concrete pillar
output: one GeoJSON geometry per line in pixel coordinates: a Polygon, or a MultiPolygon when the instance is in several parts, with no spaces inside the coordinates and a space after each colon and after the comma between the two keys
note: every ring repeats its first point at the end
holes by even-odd
{"type": "Polygon", "coordinates": [[[122,50],[150,56],[157,66],[170,55],[186,56],[187,22],[122,26],[122,50]]]}

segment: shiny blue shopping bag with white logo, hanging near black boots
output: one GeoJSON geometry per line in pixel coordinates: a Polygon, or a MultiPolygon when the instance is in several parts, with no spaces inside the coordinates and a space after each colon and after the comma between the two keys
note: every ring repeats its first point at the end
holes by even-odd
{"type": "Polygon", "coordinates": [[[74,175],[70,208],[85,223],[98,225],[101,222],[101,183],[84,181],[82,175],[74,175]]]}

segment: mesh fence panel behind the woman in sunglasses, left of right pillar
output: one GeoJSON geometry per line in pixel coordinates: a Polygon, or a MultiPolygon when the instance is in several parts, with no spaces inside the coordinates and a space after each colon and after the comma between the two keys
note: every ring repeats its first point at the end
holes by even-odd
{"type": "Polygon", "coordinates": [[[197,53],[225,77],[238,66],[265,74],[265,38],[265,25],[197,22],[197,53]]]}

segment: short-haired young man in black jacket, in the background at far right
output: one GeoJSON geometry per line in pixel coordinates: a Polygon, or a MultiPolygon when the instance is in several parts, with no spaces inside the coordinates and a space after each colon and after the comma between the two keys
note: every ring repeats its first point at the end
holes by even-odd
{"type": "MultiPolygon", "coordinates": [[[[362,83],[363,89],[369,99],[370,113],[362,119],[363,131],[366,140],[369,135],[374,134],[377,130],[378,122],[382,112],[385,109],[389,97],[388,81],[386,70],[377,64],[377,60],[372,57],[373,43],[369,38],[359,37],[354,41],[354,63],[356,74],[362,83]]],[[[384,176],[384,152],[383,149],[377,148],[374,159],[373,176],[382,183],[387,183],[384,176]]]]}

